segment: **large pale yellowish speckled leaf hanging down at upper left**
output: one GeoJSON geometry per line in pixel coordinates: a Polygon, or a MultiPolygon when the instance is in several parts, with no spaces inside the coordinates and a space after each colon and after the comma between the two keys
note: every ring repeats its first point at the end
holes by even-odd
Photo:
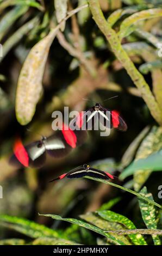
{"type": "Polygon", "coordinates": [[[58,26],[30,50],[18,77],[16,117],[21,125],[28,124],[35,113],[42,94],[42,78],[49,47],[58,32],[58,26]]]}

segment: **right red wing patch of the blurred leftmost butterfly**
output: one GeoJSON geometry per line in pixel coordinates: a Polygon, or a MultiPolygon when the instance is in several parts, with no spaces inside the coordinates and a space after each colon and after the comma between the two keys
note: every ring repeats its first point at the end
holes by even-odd
{"type": "Polygon", "coordinates": [[[77,136],[70,129],[70,127],[68,127],[66,124],[63,124],[63,129],[61,130],[61,132],[63,133],[67,144],[70,145],[72,148],[76,148],[77,136]]]}

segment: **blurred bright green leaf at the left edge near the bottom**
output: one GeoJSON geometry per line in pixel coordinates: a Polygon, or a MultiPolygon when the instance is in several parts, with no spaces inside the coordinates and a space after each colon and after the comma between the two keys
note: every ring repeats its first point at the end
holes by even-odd
{"type": "Polygon", "coordinates": [[[59,237],[57,231],[46,228],[44,225],[28,221],[24,218],[0,215],[0,225],[6,228],[16,230],[29,237],[59,237]]]}

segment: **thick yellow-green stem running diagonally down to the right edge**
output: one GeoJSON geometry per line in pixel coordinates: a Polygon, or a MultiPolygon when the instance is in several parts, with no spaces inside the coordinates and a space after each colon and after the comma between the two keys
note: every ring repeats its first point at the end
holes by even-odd
{"type": "Polygon", "coordinates": [[[134,63],[130,60],[128,54],[123,50],[122,45],[119,40],[119,36],[116,34],[114,29],[111,28],[111,24],[105,20],[102,10],[99,5],[98,0],[88,0],[93,19],[95,20],[97,26],[102,31],[102,33],[107,38],[112,51],[114,52],[117,59],[120,60],[123,67],[128,72],[129,76],[132,78],[134,84],[140,90],[142,98],[145,100],[149,111],[151,112],[154,119],[162,125],[162,111],[155,101],[155,98],[149,89],[144,77],[135,68],[134,63]]]}

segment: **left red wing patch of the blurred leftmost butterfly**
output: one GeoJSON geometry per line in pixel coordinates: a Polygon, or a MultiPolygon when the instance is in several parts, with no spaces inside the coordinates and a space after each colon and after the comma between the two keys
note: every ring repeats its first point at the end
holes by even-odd
{"type": "Polygon", "coordinates": [[[14,154],[17,157],[18,161],[23,164],[23,166],[29,166],[29,157],[26,149],[24,148],[21,139],[16,139],[14,144],[14,154]]]}

